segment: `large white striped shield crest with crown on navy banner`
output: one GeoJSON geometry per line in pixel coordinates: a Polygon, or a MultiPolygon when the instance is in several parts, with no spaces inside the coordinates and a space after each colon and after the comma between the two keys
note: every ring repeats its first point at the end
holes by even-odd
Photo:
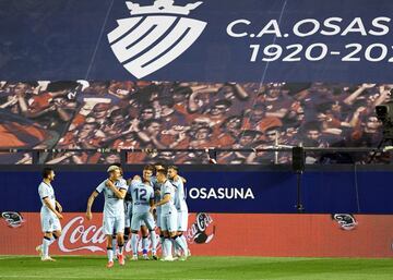
{"type": "Polygon", "coordinates": [[[184,7],[172,0],[156,0],[141,7],[127,1],[131,17],[118,20],[108,40],[120,63],[142,78],[170,63],[202,34],[205,22],[186,17],[201,1],[184,7]]]}

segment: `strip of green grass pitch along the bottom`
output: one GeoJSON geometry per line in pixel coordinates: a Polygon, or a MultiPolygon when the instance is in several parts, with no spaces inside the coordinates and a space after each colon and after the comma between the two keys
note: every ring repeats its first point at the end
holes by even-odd
{"type": "Polygon", "coordinates": [[[0,279],[139,279],[139,280],[392,280],[393,259],[196,257],[187,261],[127,261],[105,268],[104,257],[0,256],[0,279]]]}

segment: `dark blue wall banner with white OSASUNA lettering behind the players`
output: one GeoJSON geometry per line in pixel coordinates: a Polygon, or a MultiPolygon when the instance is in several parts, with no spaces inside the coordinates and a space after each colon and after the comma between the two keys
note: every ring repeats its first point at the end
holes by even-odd
{"type": "MultiPolygon", "coordinates": [[[[87,169],[87,168],[86,168],[87,169]]],[[[224,168],[225,169],[225,168],[224,168]]],[[[56,198],[64,211],[83,212],[88,196],[106,172],[56,171],[56,198]]],[[[132,178],[134,172],[126,172],[132,178]]],[[[187,204],[191,212],[291,214],[297,212],[297,176],[291,171],[188,171],[187,204]]],[[[393,214],[392,172],[308,171],[301,179],[301,200],[309,214],[393,214]],[[372,187],[370,187],[372,185],[372,187]]],[[[0,172],[0,211],[36,212],[41,207],[39,172],[0,172]]],[[[99,195],[93,211],[102,211],[99,195]]]]}

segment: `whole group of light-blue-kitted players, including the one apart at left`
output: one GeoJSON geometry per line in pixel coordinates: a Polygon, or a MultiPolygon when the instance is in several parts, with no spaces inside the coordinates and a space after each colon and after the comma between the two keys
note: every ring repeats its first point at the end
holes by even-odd
{"type": "MultiPolygon", "coordinates": [[[[104,193],[103,233],[106,235],[107,267],[114,266],[115,258],[120,266],[124,265],[124,244],[130,236],[131,260],[139,259],[140,232],[143,259],[150,259],[147,255],[150,247],[151,258],[158,259],[159,242],[160,260],[186,260],[190,255],[183,235],[188,227],[188,207],[183,186],[186,180],[178,174],[178,168],[176,166],[166,168],[162,163],[147,165],[143,169],[142,178],[134,175],[128,181],[123,179],[120,165],[110,166],[107,172],[108,179],[104,180],[88,197],[86,210],[86,218],[91,220],[93,203],[100,193],[104,193]]],[[[38,186],[43,202],[40,218],[44,240],[36,249],[40,253],[43,261],[55,260],[49,256],[49,246],[61,235],[62,207],[55,198],[51,186],[53,179],[55,171],[45,168],[43,182],[38,186]]]]}

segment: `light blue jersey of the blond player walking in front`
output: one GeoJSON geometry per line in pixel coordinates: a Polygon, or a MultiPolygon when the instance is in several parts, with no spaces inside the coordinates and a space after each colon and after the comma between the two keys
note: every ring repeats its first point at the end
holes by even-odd
{"type": "MultiPolygon", "coordinates": [[[[107,180],[102,182],[97,187],[96,192],[104,192],[105,204],[104,204],[104,217],[124,217],[124,202],[118,198],[115,193],[105,185],[107,180]]],[[[118,190],[128,190],[128,185],[124,179],[119,179],[115,182],[115,186],[118,190]]]]}

